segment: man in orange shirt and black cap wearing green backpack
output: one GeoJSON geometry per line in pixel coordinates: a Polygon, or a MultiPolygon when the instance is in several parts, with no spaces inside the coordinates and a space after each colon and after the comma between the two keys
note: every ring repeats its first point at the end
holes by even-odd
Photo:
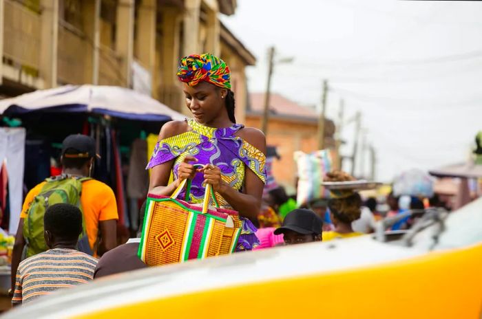
{"type": "Polygon", "coordinates": [[[43,181],[25,197],[12,252],[12,290],[20,261],[48,250],[43,238],[43,215],[56,203],[70,203],[83,212],[78,250],[98,256],[116,247],[116,197],[109,186],[90,178],[95,150],[92,137],[67,136],[61,155],[63,174],[43,181]]]}

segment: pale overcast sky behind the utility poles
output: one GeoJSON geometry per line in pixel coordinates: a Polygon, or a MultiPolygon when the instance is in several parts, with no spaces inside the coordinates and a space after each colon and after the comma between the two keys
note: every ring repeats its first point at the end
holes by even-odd
{"type": "MultiPolygon", "coordinates": [[[[275,66],[273,91],[318,105],[328,79],[328,116],[337,119],[340,98],[345,118],[362,112],[377,178],[390,181],[468,158],[482,130],[481,17],[482,1],[238,0],[222,20],[258,58],[251,92],[264,91],[270,45],[293,56],[275,66]]],[[[346,124],[345,155],[354,134],[346,124]]]]}

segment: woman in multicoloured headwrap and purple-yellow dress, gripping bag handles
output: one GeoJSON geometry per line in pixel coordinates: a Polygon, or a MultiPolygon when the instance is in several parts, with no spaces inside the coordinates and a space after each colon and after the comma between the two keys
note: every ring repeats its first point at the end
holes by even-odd
{"type": "MultiPolygon", "coordinates": [[[[258,129],[236,124],[229,67],[211,54],[182,58],[178,78],[193,119],[167,122],[147,168],[149,192],[170,196],[182,179],[192,179],[191,202],[202,203],[211,184],[221,207],[238,210],[242,232],[236,251],[259,241],[256,219],[266,181],[266,139],[258,129]],[[193,164],[201,164],[196,169],[193,164]],[[172,175],[173,178],[170,178],[172,175]]],[[[178,196],[185,198],[185,191],[178,196]]]]}

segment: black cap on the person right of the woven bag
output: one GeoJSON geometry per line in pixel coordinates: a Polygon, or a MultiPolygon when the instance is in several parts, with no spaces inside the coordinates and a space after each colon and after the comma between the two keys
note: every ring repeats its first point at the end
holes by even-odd
{"type": "Polygon", "coordinates": [[[293,230],[300,234],[322,234],[323,220],[313,212],[304,208],[295,209],[284,217],[283,225],[275,230],[275,235],[293,230]]]}

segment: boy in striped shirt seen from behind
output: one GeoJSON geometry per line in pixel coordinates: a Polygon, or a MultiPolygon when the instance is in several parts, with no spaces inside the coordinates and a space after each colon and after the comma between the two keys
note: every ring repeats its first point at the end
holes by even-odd
{"type": "Polygon", "coordinates": [[[50,294],[57,289],[88,283],[94,278],[97,260],[76,250],[82,232],[82,212],[58,203],[45,210],[45,242],[50,250],[22,261],[17,270],[13,305],[50,294]]]}

